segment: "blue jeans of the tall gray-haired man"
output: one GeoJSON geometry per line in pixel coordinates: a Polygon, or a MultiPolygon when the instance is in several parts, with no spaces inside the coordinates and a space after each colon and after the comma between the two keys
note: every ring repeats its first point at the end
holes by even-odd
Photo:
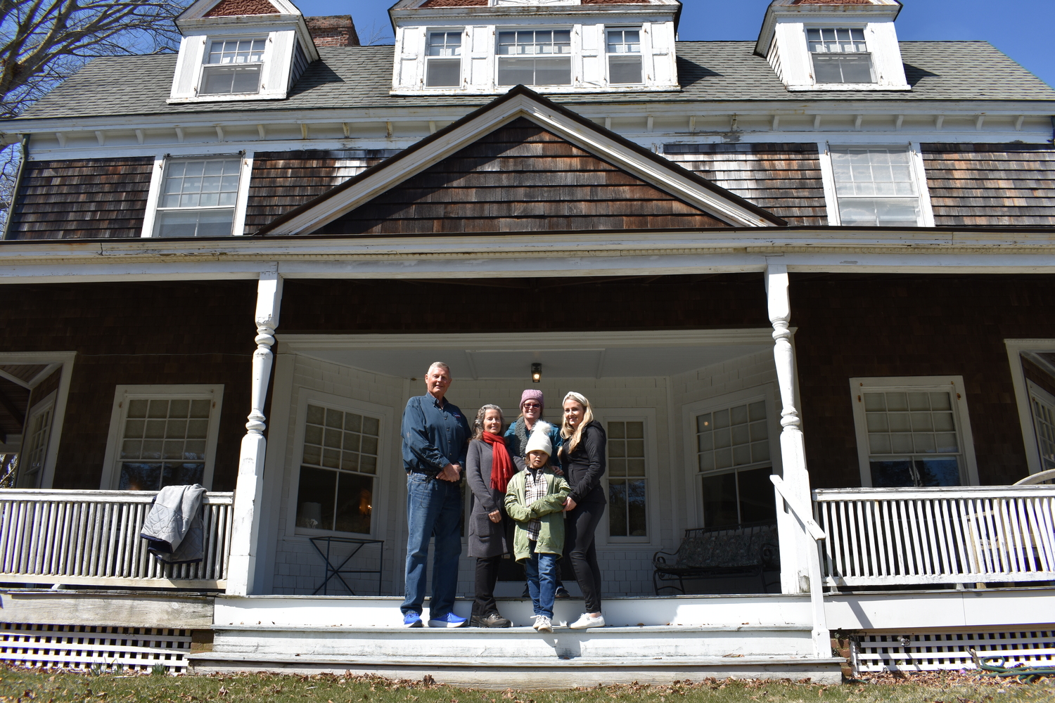
{"type": "Polygon", "coordinates": [[[429,480],[423,473],[406,476],[406,600],[400,608],[421,613],[425,602],[428,541],[436,538],[433,554],[433,594],[428,617],[439,618],[455,607],[458,560],[461,558],[461,487],[429,480]]]}

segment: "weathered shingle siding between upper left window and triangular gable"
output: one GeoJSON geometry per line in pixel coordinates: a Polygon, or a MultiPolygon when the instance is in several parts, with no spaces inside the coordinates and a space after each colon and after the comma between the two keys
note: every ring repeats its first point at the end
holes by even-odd
{"type": "Polygon", "coordinates": [[[283,213],[396,153],[389,150],[257,152],[249,181],[245,233],[253,234],[283,213]]]}

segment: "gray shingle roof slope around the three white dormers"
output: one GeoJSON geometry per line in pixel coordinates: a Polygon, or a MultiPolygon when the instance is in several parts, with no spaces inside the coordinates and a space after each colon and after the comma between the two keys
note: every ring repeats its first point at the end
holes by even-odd
{"type": "MultiPolygon", "coordinates": [[[[565,104],[696,101],[1055,100],[1055,90],[984,41],[901,42],[910,92],[789,92],[753,41],[678,42],[682,92],[553,95],[565,104]]],[[[285,100],[168,104],[174,55],[99,58],[19,119],[399,109],[488,102],[490,96],[394,96],[392,46],[321,47],[285,100]]]]}

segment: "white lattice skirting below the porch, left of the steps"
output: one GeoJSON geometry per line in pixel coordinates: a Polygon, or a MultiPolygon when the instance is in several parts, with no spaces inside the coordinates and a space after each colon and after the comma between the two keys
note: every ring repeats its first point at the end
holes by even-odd
{"type": "Polygon", "coordinates": [[[42,668],[187,670],[191,631],[150,627],[88,627],[0,623],[0,661],[42,668]]]}

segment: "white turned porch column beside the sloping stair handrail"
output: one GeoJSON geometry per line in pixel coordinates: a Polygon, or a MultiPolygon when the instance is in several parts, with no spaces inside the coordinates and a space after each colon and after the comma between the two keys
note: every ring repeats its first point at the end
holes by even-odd
{"type": "MultiPolygon", "coordinates": [[[[806,445],[802,434],[802,418],[795,407],[795,364],[791,348],[791,302],[788,296],[788,269],[783,263],[766,267],[766,295],[769,300],[769,321],[773,325],[773,358],[776,363],[776,382],[781,389],[781,458],[784,465],[784,489],[798,505],[811,505],[809,472],[806,470],[806,445]]],[[[775,494],[776,524],[781,547],[781,591],[784,593],[808,592],[809,553],[816,549],[811,540],[803,534],[794,515],[775,494]]],[[[816,584],[820,588],[820,584],[816,584]]]]}

